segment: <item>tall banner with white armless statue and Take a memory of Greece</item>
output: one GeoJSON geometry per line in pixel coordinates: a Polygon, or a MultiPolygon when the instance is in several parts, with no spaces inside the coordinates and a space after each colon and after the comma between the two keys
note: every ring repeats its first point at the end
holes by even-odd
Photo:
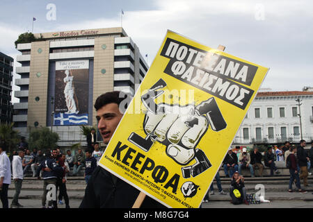
{"type": "Polygon", "coordinates": [[[88,123],[89,60],[56,62],[54,126],[88,123]]]}

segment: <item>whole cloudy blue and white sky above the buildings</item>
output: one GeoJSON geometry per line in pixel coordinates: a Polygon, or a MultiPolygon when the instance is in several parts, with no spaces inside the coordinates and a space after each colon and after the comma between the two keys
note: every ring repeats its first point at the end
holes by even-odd
{"type": "Polygon", "coordinates": [[[107,28],[120,26],[123,9],[122,26],[148,54],[148,64],[170,29],[210,47],[222,44],[227,53],[269,67],[262,87],[301,90],[313,87],[312,8],[310,0],[1,0],[0,51],[13,58],[20,54],[14,42],[31,31],[33,17],[34,33],[107,28]],[[56,6],[56,20],[46,18],[48,3],[56,6]]]}

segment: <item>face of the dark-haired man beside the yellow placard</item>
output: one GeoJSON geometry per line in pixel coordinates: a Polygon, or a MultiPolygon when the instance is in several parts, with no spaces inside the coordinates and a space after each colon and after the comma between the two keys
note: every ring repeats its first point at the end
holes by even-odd
{"type": "Polygon", "coordinates": [[[123,114],[120,112],[118,104],[116,103],[106,104],[97,110],[96,118],[98,121],[98,128],[105,144],[109,144],[122,116],[123,114]]]}

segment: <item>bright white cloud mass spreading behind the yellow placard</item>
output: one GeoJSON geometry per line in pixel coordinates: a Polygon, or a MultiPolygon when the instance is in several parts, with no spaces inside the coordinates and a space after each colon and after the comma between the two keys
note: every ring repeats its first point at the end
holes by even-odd
{"type": "MultiPolygon", "coordinates": [[[[166,30],[170,29],[211,47],[226,46],[225,51],[239,58],[270,67],[262,87],[273,90],[300,90],[312,83],[313,22],[312,1],[153,1],[153,10],[126,10],[122,26],[151,64],[166,30]],[[258,20],[259,14],[262,19],[258,20]],[[282,84],[282,79],[284,84],[282,84]]],[[[79,9],[77,9],[79,10],[79,9]]],[[[120,11],[113,17],[77,19],[77,22],[36,27],[36,32],[81,30],[118,27],[120,11]],[[49,28],[47,28],[49,27],[49,28]]],[[[6,51],[12,41],[24,31],[0,24],[0,41],[6,41],[6,51]],[[3,36],[3,35],[2,35],[3,36]]],[[[4,44],[1,43],[1,47],[4,44]]],[[[14,50],[13,50],[14,51],[14,50]]]]}

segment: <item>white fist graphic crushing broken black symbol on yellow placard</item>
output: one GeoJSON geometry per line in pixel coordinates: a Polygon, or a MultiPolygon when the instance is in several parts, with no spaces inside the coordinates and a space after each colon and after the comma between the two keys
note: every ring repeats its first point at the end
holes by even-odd
{"type": "Polygon", "coordinates": [[[143,130],[147,137],[131,133],[129,141],[149,151],[154,142],[166,146],[166,154],[178,164],[186,166],[196,160],[193,166],[183,167],[184,178],[198,176],[211,167],[204,152],[196,148],[209,126],[212,130],[223,130],[227,124],[223,119],[214,97],[199,105],[156,104],[154,99],[163,94],[157,90],[166,86],[163,79],[154,84],[147,94],[141,96],[147,108],[143,130]]]}

